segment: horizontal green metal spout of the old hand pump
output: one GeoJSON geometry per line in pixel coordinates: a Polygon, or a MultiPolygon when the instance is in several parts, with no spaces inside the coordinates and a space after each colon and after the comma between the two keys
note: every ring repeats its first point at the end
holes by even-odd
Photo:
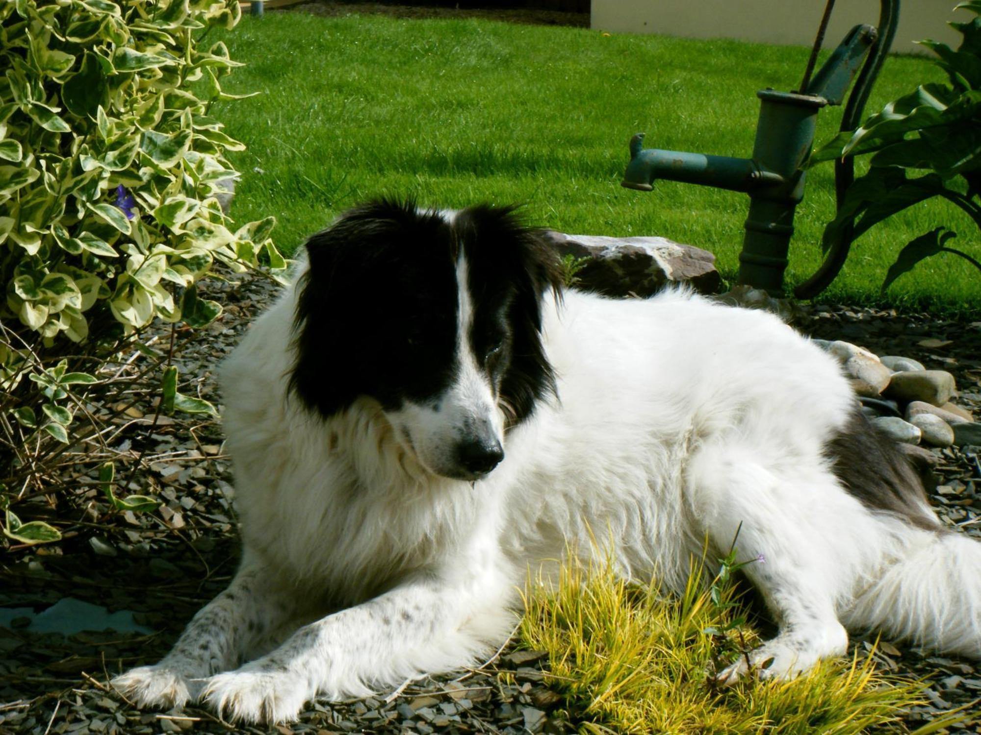
{"type": "Polygon", "coordinates": [[[621,186],[639,191],[651,191],[655,179],[685,181],[703,186],[715,186],[733,191],[749,192],[760,186],[783,181],[776,173],[764,172],[754,161],[728,156],[708,156],[702,153],[662,151],[644,148],[644,133],[630,139],[630,163],[621,186]]]}

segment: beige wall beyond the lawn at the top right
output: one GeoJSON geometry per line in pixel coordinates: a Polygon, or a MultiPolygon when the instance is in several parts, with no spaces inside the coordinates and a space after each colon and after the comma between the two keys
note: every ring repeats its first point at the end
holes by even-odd
{"type": "MultiPolygon", "coordinates": [[[[956,47],[960,34],[947,21],[968,21],[953,13],[957,0],[902,0],[893,50],[923,53],[921,38],[956,47]]],[[[739,38],[764,43],[810,46],[824,12],[824,0],[593,0],[593,27],[615,33],[664,33],[692,38],[739,38]]],[[[839,0],[832,12],[825,46],[832,48],[852,25],[877,25],[876,0],[839,0]]]]}

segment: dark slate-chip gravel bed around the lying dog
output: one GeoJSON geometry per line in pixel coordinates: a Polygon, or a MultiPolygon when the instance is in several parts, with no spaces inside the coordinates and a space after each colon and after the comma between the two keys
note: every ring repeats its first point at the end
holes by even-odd
{"type": "MultiPolygon", "coordinates": [[[[225,313],[205,334],[177,333],[182,392],[221,405],[215,367],[269,304],[275,288],[266,279],[241,276],[208,283],[208,296],[220,300],[225,313]]],[[[843,339],[952,372],[959,388],[956,402],[981,416],[981,322],[833,306],[801,309],[795,322],[815,338],[843,339]]],[[[16,550],[0,561],[0,608],[41,611],[74,598],[111,612],[132,611],[135,623],[154,632],[65,636],[28,628],[26,617],[0,627],[0,734],[574,731],[575,723],[542,680],[542,654],[515,651],[513,644],[476,669],[408,682],[368,699],[318,703],[289,725],[231,727],[198,708],[159,713],[130,707],[109,691],[108,678],[162,657],[191,615],[228,584],[238,557],[232,477],[219,426],[179,415],[162,417],[151,427],[152,414],[152,406],[133,407],[116,448],[133,462],[137,448],[144,451],[133,491],[150,488],[166,505],[155,513],[126,513],[104,522],[105,509],[93,497],[91,513],[101,518],[97,528],[79,519],[77,533],[61,543],[16,550]]],[[[975,535],[981,535],[979,452],[979,447],[933,450],[939,482],[932,500],[945,522],[975,535]]],[[[79,492],[84,490],[79,485],[79,492]]],[[[870,640],[853,645],[868,648],[870,640]]],[[[910,728],[966,706],[974,714],[953,729],[981,733],[976,707],[981,670],[975,663],[890,643],[877,658],[891,671],[928,682],[930,702],[908,714],[910,728]]]]}

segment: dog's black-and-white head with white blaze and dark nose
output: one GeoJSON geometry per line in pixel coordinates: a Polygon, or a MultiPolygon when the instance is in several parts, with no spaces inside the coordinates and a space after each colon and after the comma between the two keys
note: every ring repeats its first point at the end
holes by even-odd
{"type": "Polygon", "coordinates": [[[542,297],[556,257],[512,208],[446,214],[382,201],[306,244],[290,380],[323,417],[378,402],[428,470],[485,476],[504,432],[555,389],[542,297]]]}

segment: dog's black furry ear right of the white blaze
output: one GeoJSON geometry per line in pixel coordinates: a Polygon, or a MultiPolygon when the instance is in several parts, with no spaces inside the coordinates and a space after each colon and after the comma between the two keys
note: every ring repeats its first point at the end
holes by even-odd
{"type": "Polygon", "coordinates": [[[509,425],[531,416],[535,404],[555,395],[555,373],[542,345],[542,300],[561,298],[558,254],[544,230],[528,226],[514,207],[471,207],[455,226],[467,260],[482,281],[507,283],[513,289],[508,321],[511,361],[501,379],[501,403],[509,425]]]}

